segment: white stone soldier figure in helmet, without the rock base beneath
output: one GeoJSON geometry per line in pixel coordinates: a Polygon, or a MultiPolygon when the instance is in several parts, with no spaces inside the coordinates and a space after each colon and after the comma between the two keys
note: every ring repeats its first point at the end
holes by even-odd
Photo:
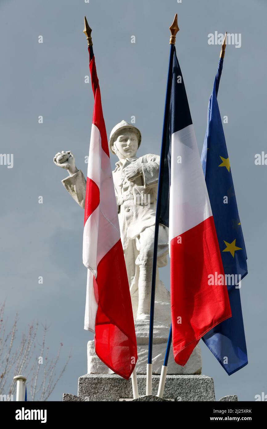
{"type": "MultiPolygon", "coordinates": [[[[140,144],[140,131],[126,121],[111,131],[109,147],[119,158],[112,173],[134,317],[149,319],[159,156],[137,157],[140,144]]],[[[54,163],[68,170],[69,177],[62,183],[84,208],[86,180],[76,168],[73,154],[69,151],[62,163],[63,154],[56,154],[54,163]]],[[[167,265],[167,254],[168,228],[159,225],[158,267],[167,265]]],[[[162,287],[158,278],[156,287],[162,287]]]]}

